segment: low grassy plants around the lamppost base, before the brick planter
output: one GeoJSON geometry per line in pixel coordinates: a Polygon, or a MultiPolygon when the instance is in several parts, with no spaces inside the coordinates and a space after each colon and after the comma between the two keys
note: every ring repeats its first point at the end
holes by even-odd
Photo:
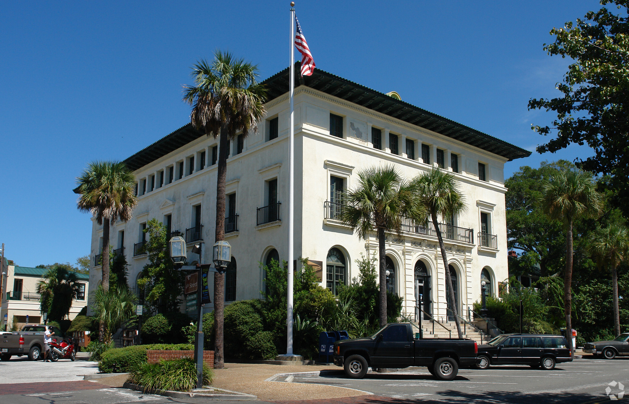
{"type": "MultiPolygon", "coordinates": [[[[203,385],[212,383],[214,373],[203,364],[203,385]]],[[[143,386],[147,390],[191,391],[196,387],[196,364],[192,359],[181,358],[159,363],[142,363],[131,369],[131,383],[143,386]]]]}

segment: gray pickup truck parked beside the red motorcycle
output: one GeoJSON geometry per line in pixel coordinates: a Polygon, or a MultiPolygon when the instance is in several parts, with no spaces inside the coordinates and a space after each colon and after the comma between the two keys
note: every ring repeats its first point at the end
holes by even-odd
{"type": "MultiPolygon", "coordinates": [[[[0,335],[0,359],[8,361],[13,355],[28,355],[31,361],[40,359],[45,327],[43,324],[26,324],[21,331],[0,335]]],[[[53,340],[64,339],[64,333],[60,329],[52,327],[52,331],[55,333],[53,340]]]]}

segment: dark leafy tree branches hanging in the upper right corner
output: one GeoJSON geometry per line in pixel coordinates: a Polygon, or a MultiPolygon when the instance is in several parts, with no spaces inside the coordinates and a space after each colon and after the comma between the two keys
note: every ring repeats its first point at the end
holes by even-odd
{"type": "Polygon", "coordinates": [[[537,151],[555,152],[572,143],[586,143],[594,155],[579,161],[580,168],[613,177],[615,205],[629,216],[629,18],[626,0],[601,0],[603,7],[589,11],[576,23],[553,28],[555,41],[544,45],[548,55],[574,61],[555,87],[554,99],[531,99],[529,109],[557,114],[550,126],[533,126],[543,135],[557,136],[537,151]]]}

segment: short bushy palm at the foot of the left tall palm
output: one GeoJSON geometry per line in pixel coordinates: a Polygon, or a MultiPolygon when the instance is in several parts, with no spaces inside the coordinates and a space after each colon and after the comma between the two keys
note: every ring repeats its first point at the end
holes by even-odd
{"type": "Polygon", "coordinates": [[[109,344],[111,336],[127,320],[133,319],[138,297],[126,285],[104,290],[101,286],[94,292],[94,317],[104,324],[102,342],[109,344]]]}

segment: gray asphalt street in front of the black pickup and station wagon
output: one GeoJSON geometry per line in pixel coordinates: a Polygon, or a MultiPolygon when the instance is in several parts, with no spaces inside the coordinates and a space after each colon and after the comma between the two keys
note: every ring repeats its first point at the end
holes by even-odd
{"type": "MultiPolygon", "coordinates": [[[[340,368],[339,368],[340,369],[340,368]]],[[[558,364],[552,371],[528,366],[492,366],[486,370],[459,369],[453,381],[438,381],[426,368],[406,368],[396,373],[370,373],[362,380],[345,373],[295,376],[293,383],[320,383],[354,388],[394,399],[472,403],[582,403],[610,401],[618,394],[618,382],[626,386],[629,399],[629,358],[611,361],[576,359],[558,364]],[[616,382],[615,386],[610,383],[616,382]]]]}

